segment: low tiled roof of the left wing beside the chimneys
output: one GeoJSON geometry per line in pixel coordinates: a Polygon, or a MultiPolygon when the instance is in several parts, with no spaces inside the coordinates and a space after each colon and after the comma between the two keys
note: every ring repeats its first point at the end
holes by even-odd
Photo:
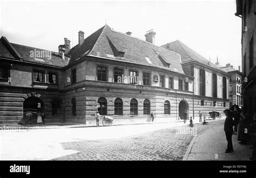
{"type": "Polygon", "coordinates": [[[37,63],[37,64],[51,65],[51,66],[58,66],[58,67],[64,67],[68,65],[68,58],[65,57],[65,60],[63,60],[60,54],[56,52],[49,51],[49,54],[51,54],[50,58],[48,58],[48,56],[46,55],[40,56],[40,57],[30,56],[30,54],[32,53],[31,51],[35,52],[36,50],[36,51],[40,51],[41,53],[41,51],[45,52],[47,50],[9,43],[5,37],[2,37],[0,39],[0,57],[19,60],[19,58],[15,57],[14,54],[11,53],[10,51],[11,49],[13,49],[16,52],[16,56],[21,57],[23,61],[28,61],[28,62],[37,63]]]}

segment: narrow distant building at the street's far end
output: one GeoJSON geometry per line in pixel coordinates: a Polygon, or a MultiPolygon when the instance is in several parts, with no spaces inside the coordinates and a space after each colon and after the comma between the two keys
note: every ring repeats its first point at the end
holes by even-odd
{"type": "MultiPolygon", "coordinates": [[[[219,64],[218,62],[215,64],[219,64]]],[[[228,63],[224,67],[220,67],[224,71],[230,74],[230,105],[238,105],[242,107],[242,73],[239,69],[236,70],[234,67],[228,63]]]]}

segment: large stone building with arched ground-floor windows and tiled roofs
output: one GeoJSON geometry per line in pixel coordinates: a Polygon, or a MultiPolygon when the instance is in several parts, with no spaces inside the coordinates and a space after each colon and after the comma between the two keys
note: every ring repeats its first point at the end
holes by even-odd
{"type": "Polygon", "coordinates": [[[48,56],[2,37],[0,121],[18,123],[30,113],[35,120],[44,111],[46,122],[93,124],[98,110],[116,123],[147,122],[151,113],[169,122],[185,111],[208,117],[229,107],[227,72],[179,41],[173,49],[154,45],[155,35],[147,32],[145,41],[105,25],[85,39],[79,31],[72,49],[65,38],[48,56]]]}

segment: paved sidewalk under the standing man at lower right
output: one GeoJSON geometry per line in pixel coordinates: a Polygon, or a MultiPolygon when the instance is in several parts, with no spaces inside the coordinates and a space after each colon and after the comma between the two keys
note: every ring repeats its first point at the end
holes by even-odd
{"type": "Polygon", "coordinates": [[[241,145],[238,135],[232,136],[234,152],[225,153],[227,141],[224,125],[207,129],[195,136],[187,149],[183,160],[245,160],[250,161],[252,145],[241,145]]]}

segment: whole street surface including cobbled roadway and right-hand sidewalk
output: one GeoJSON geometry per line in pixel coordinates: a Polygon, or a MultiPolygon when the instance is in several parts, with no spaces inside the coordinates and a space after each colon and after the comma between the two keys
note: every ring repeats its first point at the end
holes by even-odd
{"type": "Polygon", "coordinates": [[[195,119],[194,127],[179,121],[1,130],[0,160],[247,160],[252,150],[237,143],[237,135],[233,135],[234,152],[224,153],[223,125],[224,119],[206,125],[195,119]]]}

